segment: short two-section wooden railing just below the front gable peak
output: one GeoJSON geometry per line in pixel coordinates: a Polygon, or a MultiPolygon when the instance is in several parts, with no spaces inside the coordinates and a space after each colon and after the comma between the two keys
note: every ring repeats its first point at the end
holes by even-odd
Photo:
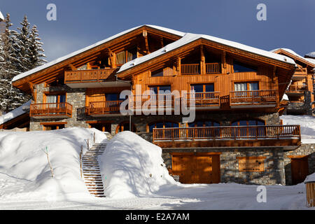
{"type": "MultiPolygon", "coordinates": [[[[221,73],[220,63],[206,63],[205,71],[206,74],[221,73]]],[[[181,64],[182,75],[198,75],[201,74],[200,64],[181,64]]]]}

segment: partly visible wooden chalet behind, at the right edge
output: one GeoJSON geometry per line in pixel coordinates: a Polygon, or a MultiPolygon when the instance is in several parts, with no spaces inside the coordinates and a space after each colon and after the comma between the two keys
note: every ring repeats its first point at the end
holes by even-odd
{"type": "Polygon", "coordinates": [[[302,57],[293,50],[279,48],[272,52],[290,57],[297,64],[297,69],[286,90],[288,106],[286,114],[312,115],[314,110],[314,68],[315,59],[302,57]]]}

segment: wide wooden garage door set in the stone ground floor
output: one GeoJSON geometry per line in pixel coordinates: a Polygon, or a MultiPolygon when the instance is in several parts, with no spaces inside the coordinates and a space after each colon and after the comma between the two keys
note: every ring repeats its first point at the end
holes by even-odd
{"type": "Polygon", "coordinates": [[[172,155],[172,173],[181,183],[220,183],[220,155],[172,155]]]}

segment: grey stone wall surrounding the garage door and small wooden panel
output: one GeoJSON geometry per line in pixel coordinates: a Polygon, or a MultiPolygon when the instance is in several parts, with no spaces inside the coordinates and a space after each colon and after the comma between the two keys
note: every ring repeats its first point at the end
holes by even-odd
{"type": "Polygon", "coordinates": [[[258,149],[163,149],[162,158],[167,168],[172,169],[172,157],[170,153],[204,153],[220,152],[221,183],[246,183],[258,185],[286,184],[283,151],[281,148],[258,149]],[[237,157],[263,156],[265,159],[264,172],[239,172],[237,157]]]}

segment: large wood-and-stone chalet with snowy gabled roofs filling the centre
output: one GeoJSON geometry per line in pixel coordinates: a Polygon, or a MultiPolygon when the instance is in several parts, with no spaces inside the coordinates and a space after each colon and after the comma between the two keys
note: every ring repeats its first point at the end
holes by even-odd
{"type": "Polygon", "coordinates": [[[182,183],[290,184],[287,154],[301,144],[300,126],[281,125],[279,110],[296,69],[285,55],[143,25],[12,83],[33,97],[31,131],[130,130],[162,147],[182,183]],[[120,113],[125,102],[130,113],[120,113]],[[191,113],[177,113],[182,106],[191,113]]]}

